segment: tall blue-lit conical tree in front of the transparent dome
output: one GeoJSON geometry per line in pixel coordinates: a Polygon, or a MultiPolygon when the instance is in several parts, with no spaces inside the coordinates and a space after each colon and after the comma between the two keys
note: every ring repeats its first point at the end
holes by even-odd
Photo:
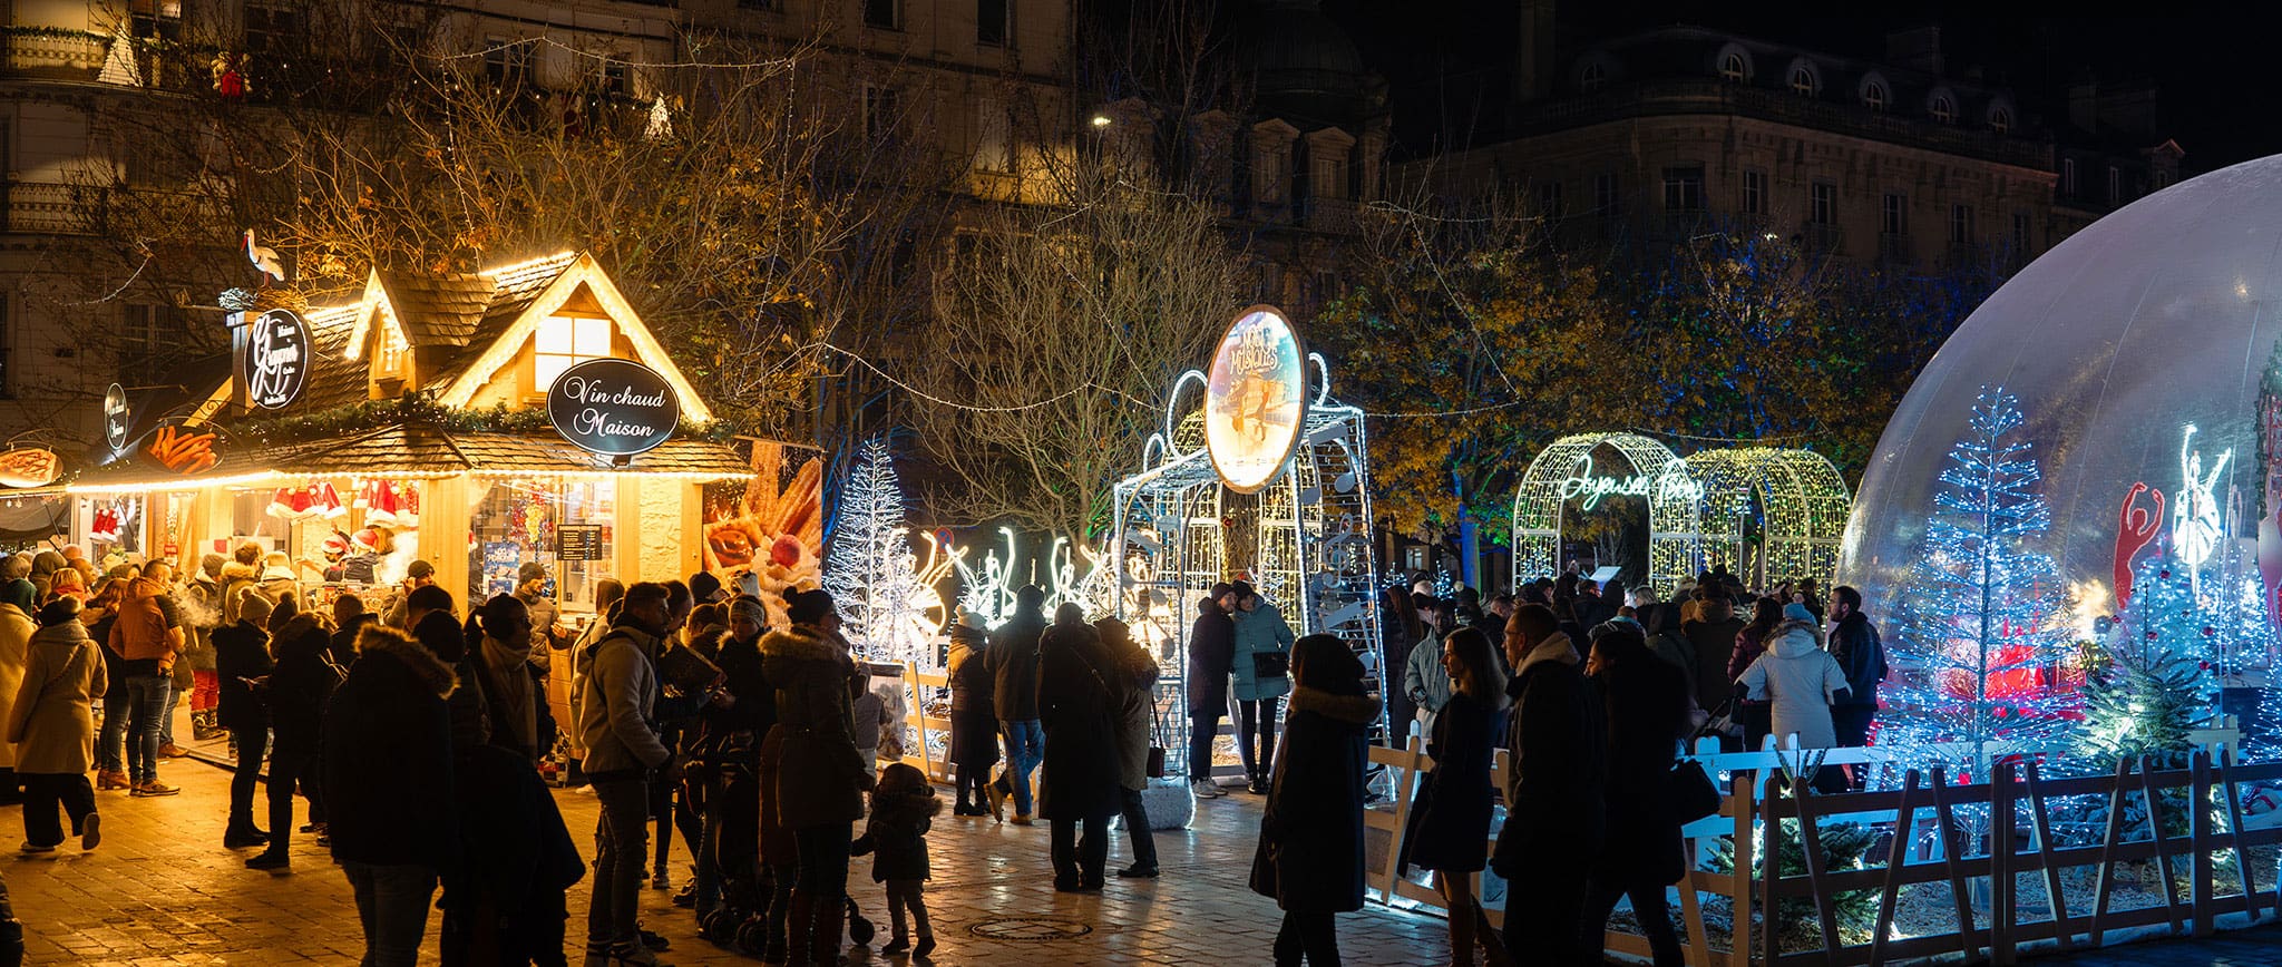
{"type": "Polygon", "coordinates": [[[1901,607],[1901,684],[1887,689],[1878,732],[1880,746],[1905,757],[1974,775],[1985,743],[2045,741],[2079,705],[2056,686],[2070,657],[2065,584],[2052,556],[2031,547],[2052,527],[2052,511],[2022,420],[2013,395],[1983,388],[1949,452],[1901,607]],[[1928,743],[1963,748],[1935,755],[1928,743]]]}

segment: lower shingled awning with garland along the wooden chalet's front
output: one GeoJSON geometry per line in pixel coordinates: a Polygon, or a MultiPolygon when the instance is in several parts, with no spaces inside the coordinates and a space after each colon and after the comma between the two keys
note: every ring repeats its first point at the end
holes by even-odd
{"type": "Polygon", "coordinates": [[[748,479],[753,470],[726,442],[666,440],[614,468],[607,456],[573,447],[555,433],[447,431],[395,424],[342,440],[285,447],[217,447],[221,458],[201,474],[176,474],[146,454],[89,470],[71,493],[196,490],[203,486],[262,486],[306,477],[440,479],[459,474],[584,477],[644,474],[682,479],[748,479]]]}

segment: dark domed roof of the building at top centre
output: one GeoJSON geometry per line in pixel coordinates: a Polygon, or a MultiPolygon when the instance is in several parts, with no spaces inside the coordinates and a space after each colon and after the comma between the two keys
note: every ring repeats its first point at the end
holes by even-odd
{"type": "Polygon", "coordinates": [[[1314,0],[1269,0],[1244,30],[1244,64],[1257,80],[1260,114],[1301,130],[1356,125],[1369,105],[1369,68],[1356,41],[1314,0]]]}

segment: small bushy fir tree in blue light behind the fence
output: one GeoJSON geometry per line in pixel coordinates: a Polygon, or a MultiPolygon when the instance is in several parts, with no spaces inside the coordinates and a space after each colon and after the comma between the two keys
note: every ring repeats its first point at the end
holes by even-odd
{"type": "Polygon", "coordinates": [[[2088,755],[2111,769],[2141,755],[2186,764],[2186,732],[2211,714],[2218,623],[2234,602],[2211,604],[2198,600],[2177,559],[2141,561],[2131,607],[2109,636],[2106,666],[2086,677],[2077,739],[2088,755]]]}

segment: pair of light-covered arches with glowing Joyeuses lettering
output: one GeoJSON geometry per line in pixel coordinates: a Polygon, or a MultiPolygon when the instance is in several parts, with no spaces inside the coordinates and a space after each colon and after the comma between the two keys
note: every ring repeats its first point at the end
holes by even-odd
{"type": "Polygon", "coordinates": [[[1853,499],[1828,458],[1807,449],[1737,447],[1686,458],[1638,433],[1575,433],[1554,440],[1513,495],[1513,582],[1561,572],[1561,520],[1570,502],[1591,511],[1609,495],[1648,499],[1648,584],[1670,593],[1682,577],[1727,566],[1741,572],[1753,493],[1764,511],[1764,579],[1837,579],[1839,541],[1853,499]],[[1632,477],[1597,474],[1602,445],[1632,477]]]}

